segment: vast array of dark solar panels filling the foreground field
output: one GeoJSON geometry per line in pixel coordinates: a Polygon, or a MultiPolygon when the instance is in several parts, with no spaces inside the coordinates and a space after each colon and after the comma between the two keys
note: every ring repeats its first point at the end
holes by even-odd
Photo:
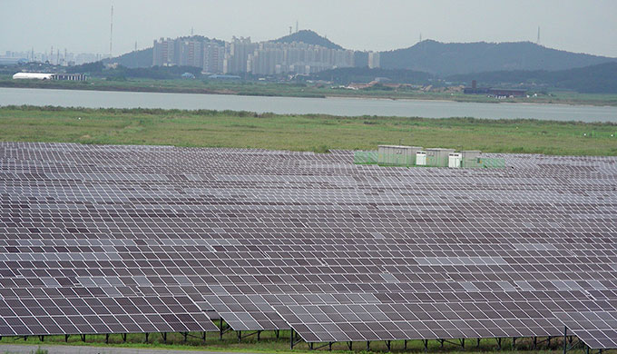
{"type": "Polygon", "coordinates": [[[617,348],[617,159],[0,143],[0,335],[295,329],[617,348]]]}

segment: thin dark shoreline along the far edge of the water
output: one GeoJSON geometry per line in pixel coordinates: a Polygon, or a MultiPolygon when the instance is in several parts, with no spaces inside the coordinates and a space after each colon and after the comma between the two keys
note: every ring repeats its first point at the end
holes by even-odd
{"type": "MultiPolygon", "coordinates": [[[[358,100],[381,100],[381,101],[406,101],[406,102],[452,102],[452,103],[511,103],[511,104],[543,104],[543,105],[563,105],[563,106],[590,106],[590,107],[615,107],[617,103],[593,103],[585,100],[573,102],[520,102],[512,101],[510,99],[486,101],[482,98],[485,96],[479,96],[477,99],[474,96],[469,96],[468,99],[447,99],[445,97],[398,97],[398,96],[379,96],[379,95],[362,95],[362,94],[284,94],[284,93],[242,93],[234,92],[230,90],[211,90],[207,88],[203,89],[191,89],[191,88],[162,88],[152,86],[134,86],[134,87],[105,87],[105,86],[91,86],[91,85],[68,85],[68,84],[54,84],[53,86],[44,87],[48,83],[36,83],[32,86],[24,84],[5,84],[0,82],[0,88],[12,88],[12,89],[40,89],[40,90],[76,90],[76,91],[100,91],[100,92],[127,92],[127,93],[191,93],[191,94],[222,94],[231,96],[254,96],[254,97],[292,97],[292,98],[348,98],[358,100]]],[[[466,98],[466,97],[465,97],[466,98]]],[[[559,101],[559,99],[556,99],[559,101]]]]}

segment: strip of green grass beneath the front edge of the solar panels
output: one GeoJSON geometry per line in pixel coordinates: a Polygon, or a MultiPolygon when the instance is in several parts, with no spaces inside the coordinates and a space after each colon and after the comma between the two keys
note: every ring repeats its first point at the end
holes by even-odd
{"type": "MultiPolygon", "coordinates": [[[[247,332],[242,332],[248,334],[247,332]]],[[[206,341],[203,342],[200,333],[191,333],[188,340],[184,342],[184,337],[180,333],[169,333],[167,342],[162,342],[162,336],[159,333],[151,333],[148,343],[144,341],[145,336],[143,334],[129,334],[127,335],[126,342],[122,342],[121,335],[111,335],[109,343],[105,344],[105,336],[103,335],[89,335],[86,336],[86,340],[83,342],[79,336],[71,336],[68,341],[64,341],[64,336],[47,336],[44,341],[39,340],[36,337],[28,337],[26,340],[23,338],[6,338],[0,342],[0,351],[2,350],[2,344],[23,344],[23,345],[71,345],[71,346],[104,346],[104,347],[122,347],[133,349],[176,349],[176,350],[210,350],[210,351],[230,351],[230,352],[277,352],[277,353],[305,353],[310,352],[307,343],[300,342],[293,350],[289,348],[289,330],[281,330],[279,339],[276,339],[274,331],[263,331],[261,333],[260,341],[257,341],[253,335],[249,338],[241,339],[239,342],[236,332],[228,332],[223,336],[223,339],[219,339],[219,333],[208,333],[206,335],[206,341]]],[[[538,342],[541,342],[545,338],[539,338],[538,342]]],[[[449,354],[458,353],[481,353],[481,352],[493,352],[498,350],[496,339],[482,339],[479,347],[476,347],[475,339],[465,340],[465,350],[462,350],[458,340],[450,340],[452,343],[446,342],[444,348],[441,348],[441,343],[437,340],[428,341],[428,352],[440,352],[449,354]]],[[[573,343],[576,343],[574,339],[573,343]]],[[[550,347],[546,342],[538,345],[538,349],[532,348],[532,339],[522,338],[516,339],[516,347],[513,348],[512,339],[502,340],[502,349],[500,353],[514,354],[514,353],[555,353],[563,350],[563,341],[561,338],[552,339],[550,347]]],[[[316,343],[315,348],[319,345],[328,343],[316,343]]],[[[348,349],[347,343],[333,343],[332,350],[338,353],[365,353],[366,342],[354,342],[353,350],[348,349]]],[[[328,347],[320,349],[321,351],[328,351],[328,347]]],[[[386,342],[384,341],[371,341],[371,352],[387,352],[386,342]]],[[[392,352],[424,352],[424,344],[420,340],[409,340],[407,342],[407,349],[404,349],[404,342],[402,340],[395,340],[391,342],[392,352]]],[[[605,351],[606,352],[606,351],[605,351]]],[[[610,353],[608,351],[607,353],[610,353]]],[[[614,350],[612,350],[614,353],[614,350]]],[[[569,353],[583,353],[582,347],[576,347],[569,351],[569,353]]]]}

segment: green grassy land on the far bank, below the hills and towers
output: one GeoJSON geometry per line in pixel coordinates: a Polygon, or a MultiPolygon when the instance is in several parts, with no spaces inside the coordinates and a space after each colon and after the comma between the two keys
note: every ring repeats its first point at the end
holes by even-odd
{"type": "Polygon", "coordinates": [[[617,105],[617,94],[592,94],[554,92],[530,98],[495,99],[484,95],[463,93],[437,93],[420,90],[369,89],[345,90],[329,86],[318,87],[305,84],[279,84],[265,82],[222,82],[213,80],[152,80],[128,79],[126,81],[107,81],[92,78],[85,83],[59,81],[13,80],[0,75],[0,87],[53,88],[95,91],[131,91],[160,93],[220,93],[259,96],[288,97],[360,97],[409,100],[447,100],[477,103],[563,103],[590,105],[617,105]]]}

